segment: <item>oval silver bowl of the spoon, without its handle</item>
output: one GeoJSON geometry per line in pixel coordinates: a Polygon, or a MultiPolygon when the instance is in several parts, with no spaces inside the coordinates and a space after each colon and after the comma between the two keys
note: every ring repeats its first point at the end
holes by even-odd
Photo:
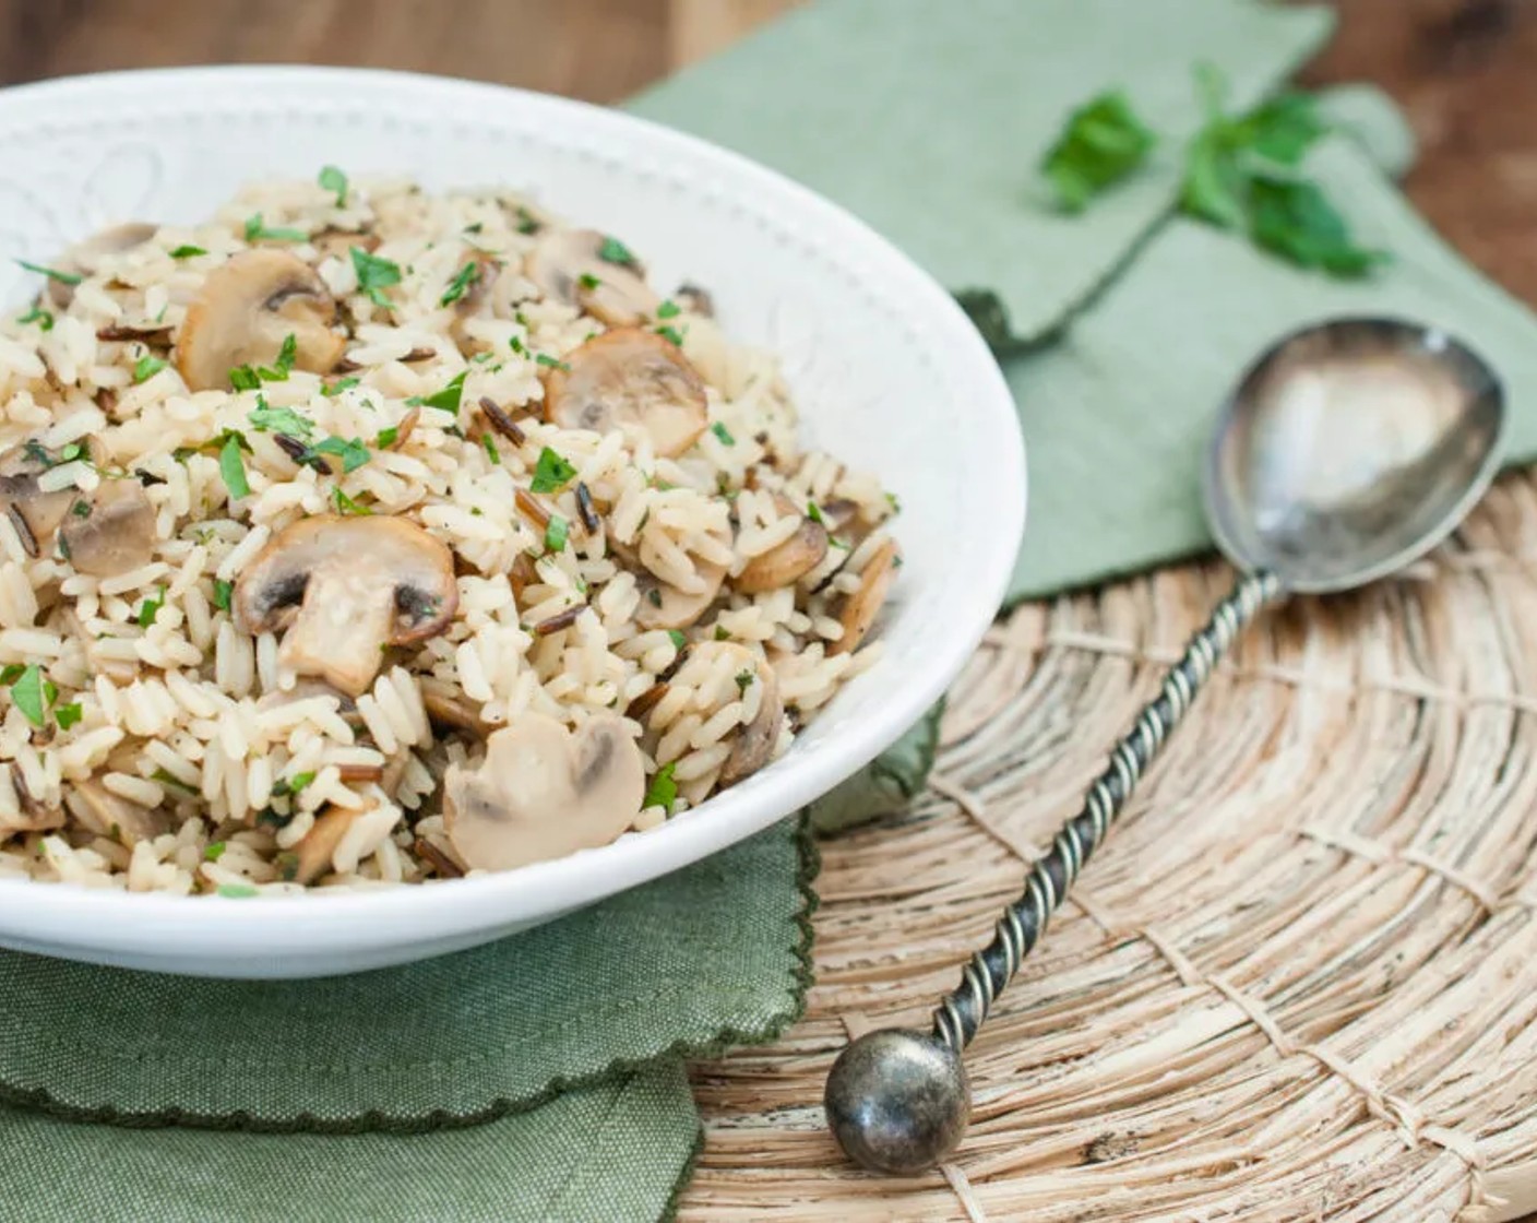
{"type": "Polygon", "coordinates": [[[1445,331],[1339,318],[1280,340],[1223,405],[1207,518],[1240,569],[1322,594],[1440,543],[1499,468],[1505,395],[1445,331]]]}

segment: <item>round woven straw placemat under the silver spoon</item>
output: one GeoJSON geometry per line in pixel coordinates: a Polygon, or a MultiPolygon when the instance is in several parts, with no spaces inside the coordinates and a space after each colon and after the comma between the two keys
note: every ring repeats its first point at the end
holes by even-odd
{"type": "Polygon", "coordinates": [[[954,1161],[853,1171],[833,1057],[928,1026],[1219,565],[1027,605],[951,694],[928,794],[822,845],[816,988],[695,1068],[686,1220],[1459,1220],[1537,1209],[1537,482],[1400,580],[1273,612],[967,1055],[954,1161]]]}

